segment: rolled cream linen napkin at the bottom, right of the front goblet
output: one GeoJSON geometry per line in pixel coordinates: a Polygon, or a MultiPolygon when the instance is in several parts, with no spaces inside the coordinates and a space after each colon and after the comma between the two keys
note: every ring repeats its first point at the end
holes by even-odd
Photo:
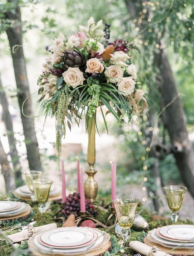
{"type": "MultiPolygon", "coordinates": [[[[139,252],[143,255],[146,255],[146,256],[149,256],[149,252],[150,250],[152,249],[152,247],[144,244],[144,243],[141,243],[139,241],[131,241],[129,243],[129,247],[136,251],[136,252],[139,252]]],[[[171,256],[170,254],[164,252],[164,251],[160,251],[160,250],[157,250],[156,252],[153,252],[152,253],[152,256],[171,256]]]]}

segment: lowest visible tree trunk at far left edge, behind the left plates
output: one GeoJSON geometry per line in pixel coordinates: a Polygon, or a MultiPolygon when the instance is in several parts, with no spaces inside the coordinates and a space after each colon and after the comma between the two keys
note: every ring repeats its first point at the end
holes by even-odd
{"type": "Polygon", "coordinates": [[[9,162],[7,160],[7,155],[4,151],[3,145],[0,140],[0,165],[1,165],[1,172],[3,174],[5,180],[5,192],[6,194],[9,191],[14,192],[15,190],[15,181],[14,175],[12,170],[10,169],[9,162]]]}

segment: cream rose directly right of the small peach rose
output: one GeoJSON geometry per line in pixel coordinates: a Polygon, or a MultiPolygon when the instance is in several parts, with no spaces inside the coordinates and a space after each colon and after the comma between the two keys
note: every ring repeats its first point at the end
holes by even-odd
{"type": "Polygon", "coordinates": [[[120,78],[123,77],[123,72],[124,70],[117,65],[107,67],[107,69],[104,71],[105,77],[107,78],[107,83],[116,83],[120,81],[120,78]]]}

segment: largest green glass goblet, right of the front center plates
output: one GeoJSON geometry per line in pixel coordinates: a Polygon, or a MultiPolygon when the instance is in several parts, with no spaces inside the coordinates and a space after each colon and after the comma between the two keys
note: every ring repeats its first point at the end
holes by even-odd
{"type": "Polygon", "coordinates": [[[135,219],[135,212],[139,199],[134,198],[116,198],[111,200],[116,213],[117,221],[122,227],[121,234],[124,240],[123,247],[128,246],[128,240],[131,236],[131,227],[135,219]]]}

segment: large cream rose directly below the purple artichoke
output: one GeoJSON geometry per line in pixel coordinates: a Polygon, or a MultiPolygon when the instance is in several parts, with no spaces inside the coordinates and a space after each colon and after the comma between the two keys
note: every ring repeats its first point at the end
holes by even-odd
{"type": "Polygon", "coordinates": [[[70,87],[75,88],[78,85],[82,85],[85,78],[83,72],[80,71],[79,67],[69,67],[63,74],[63,80],[70,87]]]}

